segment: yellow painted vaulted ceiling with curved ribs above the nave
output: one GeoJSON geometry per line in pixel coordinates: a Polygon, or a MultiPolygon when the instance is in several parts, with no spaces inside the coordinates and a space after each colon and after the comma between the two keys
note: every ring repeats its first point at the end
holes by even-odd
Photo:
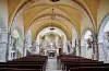
{"type": "MultiPolygon", "coordinates": [[[[72,24],[77,33],[81,34],[81,21],[84,16],[86,16],[89,22],[92,22],[93,26],[96,26],[98,1],[99,0],[8,0],[10,14],[9,25],[14,24],[19,17],[22,17],[24,20],[24,33],[26,33],[28,28],[35,28],[32,26],[32,24],[36,22],[37,19],[40,19],[40,16],[44,15],[50,15],[51,9],[55,7],[56,14],[64,16],[66,21],[71,22],[69,23],[62,22],[62,20],[58,20],[58,22],[61,23],[61,25],[58,27],[62,28],[62,26],[64,26],[62,23],[68,23],[68,27],[65,29],[71,34],[69,24],[72,24]],[[90,7],[92,3],[94,3],[93,5],[95,8],[90,7]],[[29,14],[29,16],[27,14],[29,14]]],[[[39,29],[41,29],[44,26],[50,26],[49,24],[45,23],[43,26],[40,26],[41,24],[38,25],[37,22],[34,24],[36,24],[39,29]]],[[[38,33],[38,31],[36,31],[36,33],[38,33]]],[[[33,35],[36,35],[36,33],[33,33],[33,35]]],[[[68,37],[71,38],[71,35],[68,37]]]]}

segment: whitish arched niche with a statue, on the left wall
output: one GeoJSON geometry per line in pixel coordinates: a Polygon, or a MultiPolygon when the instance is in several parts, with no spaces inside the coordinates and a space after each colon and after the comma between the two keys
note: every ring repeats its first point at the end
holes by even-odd
{"type": "Polygon", "coordinates": [[[16,27],[12,31],[9,48],[9,60],[23,57],[23,34],[16,27]]]}

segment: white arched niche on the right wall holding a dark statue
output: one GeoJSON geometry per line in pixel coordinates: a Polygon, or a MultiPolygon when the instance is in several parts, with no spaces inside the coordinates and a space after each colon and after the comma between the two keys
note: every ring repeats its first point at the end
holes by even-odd
{"type": "Polygon", "coordinates": [[[94,58],[92,35],[93,33],[90,29],[85,29],[81,37],[81,56],[89,59],[94,58]]]}

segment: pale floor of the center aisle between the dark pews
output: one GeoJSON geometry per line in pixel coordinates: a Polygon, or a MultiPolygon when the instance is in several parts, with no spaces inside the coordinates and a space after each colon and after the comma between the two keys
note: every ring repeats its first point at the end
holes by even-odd
{"type": "Polygon", "coordinates": [[[62,71],[58,69],[57,58],[48,58],[46,71],[62,71]]]}

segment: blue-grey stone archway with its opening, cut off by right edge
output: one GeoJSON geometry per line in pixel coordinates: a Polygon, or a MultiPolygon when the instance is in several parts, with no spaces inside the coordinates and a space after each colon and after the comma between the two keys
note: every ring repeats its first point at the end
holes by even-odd
{"type": "Polygon", "coordinates": [[[109,62],[109,14],[102,20],[98,33],[99,60],[109,62]]]}

